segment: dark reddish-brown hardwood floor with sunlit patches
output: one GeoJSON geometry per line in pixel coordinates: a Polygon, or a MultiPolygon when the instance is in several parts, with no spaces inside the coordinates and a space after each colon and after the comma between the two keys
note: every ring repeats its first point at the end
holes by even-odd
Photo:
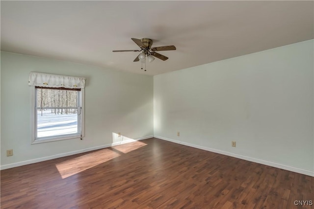
{"type": "Polygon", "coordinates": [[[146,139],[1,170],[0,206],[299,209],[313,189],[314,177],[146,139]]]}

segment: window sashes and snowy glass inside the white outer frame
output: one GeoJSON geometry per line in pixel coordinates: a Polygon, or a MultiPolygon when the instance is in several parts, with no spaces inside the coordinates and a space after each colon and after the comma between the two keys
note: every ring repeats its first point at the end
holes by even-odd
{"type": "Polygon", "coordinates": [[[35,87],[35,140],[81,135],[81,90],[35,87]]]}

